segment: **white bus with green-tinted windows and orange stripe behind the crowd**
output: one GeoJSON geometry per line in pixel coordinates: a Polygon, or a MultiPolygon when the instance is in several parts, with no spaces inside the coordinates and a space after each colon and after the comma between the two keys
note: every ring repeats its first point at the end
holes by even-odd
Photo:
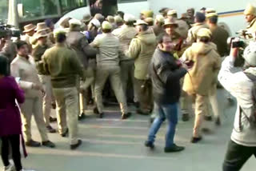
{"type": "MultiPolygon", "coordinates": [[[[107,0],[103,0],[107,1],[107,0]]],[[[179,14],[185,13],[186,9],[194,7],[196,11],[202,7],[212,7],[218,11],[219,22],[230,28],[230,33],[246,27],[243,10],[252,0],[118,0],[118,10],[134,14],[137,18],[142,10],[158,10],[163,7],[178,10],[179,14]]],[[[71,18],[82,19],[84,14],[90,14],[89,0],[0,0],[0,16],[6,18],[6,8],[9,7],[8,22],[14,26],[21,23],[44,20],[46,18],[61,18],[63,15],[71,18]]],[[[1,17],[0,17],[1,19],[1,17]]],[[[57,24],[58,26],[58,24],[57,24]]]]}

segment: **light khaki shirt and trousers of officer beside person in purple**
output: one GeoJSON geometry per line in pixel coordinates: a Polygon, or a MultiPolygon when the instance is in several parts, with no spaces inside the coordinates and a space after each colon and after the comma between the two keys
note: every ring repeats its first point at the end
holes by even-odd
{"type": "Polygon", "coordinates": [[[31,137],[31,117],[34,115],[34,120],[38,125],[39,133],[42,141],[48,141],[46,123],[42,115],[42,93],[40,90],[32,89],[32,85],[42,85],[39,81],[37,70],[34,66],[34,59],[28,59],[17,56],[10,66],[11,75],[15,78],[20,78],[19,85],[25,91],[26,101],[21,107],[22,112],[22,127],[25,141],[30,141],[31,137]]]}

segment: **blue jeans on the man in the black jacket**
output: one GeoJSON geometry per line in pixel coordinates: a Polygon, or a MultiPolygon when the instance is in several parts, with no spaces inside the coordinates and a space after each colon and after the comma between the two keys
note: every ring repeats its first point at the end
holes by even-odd
{"type": "Polygon", "coordinates": [[[151,125],[148,142],[154,143],[155,135],[158,133],[158,129],[160,129],[162,122],[167,119],[168,126],[166,132],[166,148],[172,147],[174,145],[175,129],[178,123],[178,103],[168,105],[159,105],[154,103],[154,112],[158,115],[158,117],[154,119],[154,122],[151,125]]]}

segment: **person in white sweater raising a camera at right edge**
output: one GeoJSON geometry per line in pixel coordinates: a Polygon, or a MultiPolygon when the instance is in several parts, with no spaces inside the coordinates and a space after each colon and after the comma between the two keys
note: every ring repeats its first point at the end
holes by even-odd
{"type": "Polygon", "coordinates": [[[250,42],[244,51],[244,69],[234,66],[238,58],[238,42],[238,38],[235,38],[230,56],[222,62],[218,74],[219,82],[238,101],[223,171],[238,171],[253,154],[256,157],[256,42],[250,42]]]}

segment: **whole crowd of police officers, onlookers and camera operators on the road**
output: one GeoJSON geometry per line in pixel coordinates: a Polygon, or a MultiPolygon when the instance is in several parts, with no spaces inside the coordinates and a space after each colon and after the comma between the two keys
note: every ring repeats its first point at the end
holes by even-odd
{"type": "Polygon", "coordinates": [[[174,9],[164,8],[157,15],[143,10],[138,20],[122,11],[106,18],[85,14],[81,21],[62,18],[56,29],[47,19],[36,26],[24,26],[16,42],[6,31],[0,46],[4,170],[22,170],[20,138],[25,154],[25,145],[54,148],[47,134],[57,132],[69,136],[70,149],[77,149],[82,144],[78,121],[86,118],[88,105],[94,105],[99,118],[104,117],[107,101],[118,102],[122,120],[132,114],[150,117],[152,125],[145,142],[150,149],[154,149],[156,133],[167,120],[164,151],[182,151],[185,147],[174,143],[179,111],[182,121],[189,121],[194,104],[192,143],[202,140],[204,120],[222,124],[216,94],[218,80],[238,100],[223,170],[241,169],[251,155],[256,155],[256,8],[249,5],[244,12],[249,22],[246,31],[254,41],[246,47],[247,67],[243,70],[234,67],[239,48],[227,45],[230,35],[218,26],[217,12],[202,8],[195,13],[191,8],[178,18],[174,9]],[[130,111],[130,103],[136,106],[136,112],[130,111]],[[57,118],[51,116],[52,108],[57,118]],[[42,142],[32,137],[32,116],[42,142]],[[50,125],[54,121],[58,129],[50,125]],[[14,164],[9,161],[9,145],[14,164]]]}

